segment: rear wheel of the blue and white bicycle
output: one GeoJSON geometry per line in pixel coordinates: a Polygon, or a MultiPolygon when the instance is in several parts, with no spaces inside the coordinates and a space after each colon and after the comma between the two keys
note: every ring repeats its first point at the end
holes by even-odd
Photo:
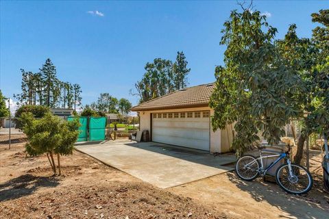
{"type": "Polygon", "coordinates": [[[245,181],[252,181],[259,175],[260,164],[252,155],[244,155],[235,164],[236,175],[245,181]]]}

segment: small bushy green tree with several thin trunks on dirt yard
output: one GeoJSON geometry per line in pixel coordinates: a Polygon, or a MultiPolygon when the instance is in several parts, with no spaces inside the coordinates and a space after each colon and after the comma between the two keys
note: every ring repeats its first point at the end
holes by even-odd
{"type": "Polygon", "coordinates": [[[56,175],[56,164],[53,156],[57,155],[58,170],[60,170],[60,155],[71,155],[74,143],[77,141],[79,121],[65,121],[51,113],[40,119],[34,118],[31,113],[22,115],[25,122],[23,131],[29,142],[25,144],[26,152],[31,156],[47,154],[49,163],[56,175]]]}

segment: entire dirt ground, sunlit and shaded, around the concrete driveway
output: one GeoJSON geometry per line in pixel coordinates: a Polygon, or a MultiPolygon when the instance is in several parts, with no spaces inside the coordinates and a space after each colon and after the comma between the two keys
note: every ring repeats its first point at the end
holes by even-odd
{"type": "Polygon", "coordinates": [[[26,157],[22,137],[8,150],[0,136],[0,218],[329,218],[320,156],[304,196],[232,172],[160,190],[78,152],[53,177],[47,156],[26,157]]]}

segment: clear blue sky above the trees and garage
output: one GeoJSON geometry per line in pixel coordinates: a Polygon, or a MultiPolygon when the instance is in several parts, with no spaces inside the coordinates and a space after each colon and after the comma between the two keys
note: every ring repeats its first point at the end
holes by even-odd
{"type": "MultiPolygon", "coordinates": [[[[100,92],[127,98],[156,57],[184,51],[190,86],[215,81],[223,64],[221,28],[236,1],[1,1],[0,88],[21,92],[21,72],[38,71],[49,57],[62,81],[80,83],[83,104],[100,92]]],[[[310,14],[329,1],[254,1],[282,38],[289,24],[310,37],[310,14]]]]}

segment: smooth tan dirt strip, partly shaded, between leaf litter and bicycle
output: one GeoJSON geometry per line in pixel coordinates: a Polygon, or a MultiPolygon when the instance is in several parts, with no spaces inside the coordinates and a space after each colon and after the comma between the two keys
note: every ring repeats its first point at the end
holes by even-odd
{"type": "Polygon", "coordinates": [[[313,189],[302,196],[287,194],[276,183],[241,181],[234,172],[169,188],[232,218],[329,218],[329,194],[323,190],[321,155],[310,159],[313,189]]]}

